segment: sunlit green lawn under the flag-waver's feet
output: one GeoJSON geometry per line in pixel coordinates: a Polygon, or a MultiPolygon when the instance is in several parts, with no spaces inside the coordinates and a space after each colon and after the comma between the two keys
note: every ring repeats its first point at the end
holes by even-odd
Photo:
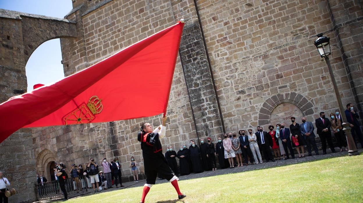
{"type": "MultiPolygon", "coordinates": [[[[363,202],[363,155],[180,180],[183,202],[363,202]]],[[[183,179],[183,177],[181,177],[183,179]]],[[[67,202],[139,202],[142,187],[67,202]]],[[[170,183],[156,184],[146,202],[181,202],[170,183]]]]}

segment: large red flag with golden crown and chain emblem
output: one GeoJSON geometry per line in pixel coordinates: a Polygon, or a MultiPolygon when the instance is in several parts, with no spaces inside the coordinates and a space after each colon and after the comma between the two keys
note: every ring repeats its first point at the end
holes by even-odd
{"type": "Polygon", "coordinates": [[[53,84],[0,104],[0,142],[21,127],[97,123],[165,113],[180,21],[53,84]]]}

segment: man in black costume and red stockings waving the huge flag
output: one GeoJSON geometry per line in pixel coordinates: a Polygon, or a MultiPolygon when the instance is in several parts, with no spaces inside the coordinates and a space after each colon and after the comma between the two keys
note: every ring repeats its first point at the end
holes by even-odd
{"type": "Polygon", "coordinates": [[[145,197],[149,192],[151,186],[155,184],[156,176],[161,174],[166,178],[172,186],[174,186],[178,193],[178,199],[183,199],[183,195],[179,190],[178,177],[170,169],[166,161],[160,138],[163,138],[166,133],[166,116],[162,117],[162,125],[152,130],[150,123],[143,122],[140,125],[140,132],[138,133],[138,141],[141,142],[142,156],[144,158],[144,171],[146,175],[146,184],[144,184],[140,202],[145,202],[145,197]]]}

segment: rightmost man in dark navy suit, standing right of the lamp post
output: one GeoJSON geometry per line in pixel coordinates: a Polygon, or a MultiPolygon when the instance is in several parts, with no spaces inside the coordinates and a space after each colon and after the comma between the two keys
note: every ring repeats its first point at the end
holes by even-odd
{"type": "Polygon", "coordinates": [[[357,142],[355,141],[355,135],[357,135],[360,142],[360,147],[363,148],[363,136],[362,132],[360,131],[360,126],[358,122],[358,113],[353,110],[353,105],[351,103],[347,104],[347,109],[344,111],[344,113],[347,117],[347,122],[349,123],[349,126],[352,128],[351,132],[355,145],[357,145],[357,142]]]}

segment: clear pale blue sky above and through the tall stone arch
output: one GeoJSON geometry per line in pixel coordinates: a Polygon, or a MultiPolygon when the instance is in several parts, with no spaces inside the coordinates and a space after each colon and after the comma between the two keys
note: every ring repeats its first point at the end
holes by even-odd
{"type": "MultiPolygon", "coordinates": [[[[72,10],[72,0],[0,0],[0,8],[24,13],[64,18],[72,10]]],[[[41,44],[25,66],[28,91],[34,84],[48,84],[64,77],[59,39],[41,44]]]]}

